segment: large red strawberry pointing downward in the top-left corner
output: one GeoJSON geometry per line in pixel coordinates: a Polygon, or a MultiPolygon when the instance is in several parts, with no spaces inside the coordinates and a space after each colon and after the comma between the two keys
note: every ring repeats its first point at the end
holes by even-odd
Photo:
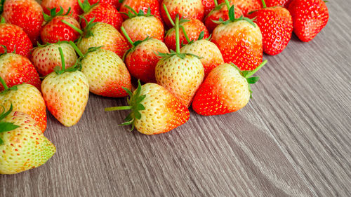
{"type": "Polygon", "coordinates": [[[22,27],[33,44],[37,44],[44,22],[43,8],[35,0],[6,0],[2,16],[6,22],[22,27]]]}

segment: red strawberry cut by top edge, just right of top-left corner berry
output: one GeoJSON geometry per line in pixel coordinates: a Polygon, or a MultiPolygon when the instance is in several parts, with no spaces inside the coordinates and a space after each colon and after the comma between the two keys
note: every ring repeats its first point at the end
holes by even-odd
{"type": "Polygon", "coordinates": [[[78,15],[82,13],[81,7],[78,4],[78,0],[42,0],[41,6],[43,7],[44,13],[46,14],[50,14],[50,11],[53,8],[56,8],[57,10],[60,10],[60,8],[63,8],[64,13],[67,13],[67,11],[70,8],[71,10],[69,11],[69,15],[72,14],[72,17],[75,20],[78,20],[79,19],[78,15]]]}

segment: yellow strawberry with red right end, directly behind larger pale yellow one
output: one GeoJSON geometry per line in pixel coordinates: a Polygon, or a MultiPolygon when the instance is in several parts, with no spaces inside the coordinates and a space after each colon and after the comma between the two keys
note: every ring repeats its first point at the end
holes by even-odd
{"type": "Polygon", "coordinates": [[[89,22],[89,25],[82,32],[82,38],[77,44],[83,54],[91,47],[102,46],[111,50],[119,57],[123,57],[129,45],[124,36],[121,35],[112,25],[103,22],[89,22]]]}

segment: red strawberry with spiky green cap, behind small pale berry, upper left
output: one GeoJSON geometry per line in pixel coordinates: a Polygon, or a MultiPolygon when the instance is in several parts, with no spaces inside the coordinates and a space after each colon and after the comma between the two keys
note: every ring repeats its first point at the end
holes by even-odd
{"type": "Polygon", "coordinates": [[[80,29],[79,22],[68,16],[69,12],[63,14],[63,9],[56,13],[56,8],[51,10],[51,15],[44,14],[44,19],[47,22],[41,29],[41,41],[44,43],[56,43],[58,41],[74,41],[81,34],[75,29],[80,29]],[[63,21],[63,22],[62,22],[63,21]],[[70,25],[66,25],[65,23],[70,25]],[[75,28],[72,28],[74,26],[75,28]]]}

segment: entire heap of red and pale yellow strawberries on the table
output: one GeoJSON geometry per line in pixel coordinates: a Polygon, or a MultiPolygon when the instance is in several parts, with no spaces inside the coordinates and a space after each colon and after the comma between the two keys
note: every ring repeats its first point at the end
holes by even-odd
{"type": "Polygon", "coordinates": [[[128,97],[105,111],[146,135],[238,111],[263,53],[328,20],[322,0],[0,0],[0,174],[46,163],[46,109],[71,127],[89,93],[128,97]]]}

